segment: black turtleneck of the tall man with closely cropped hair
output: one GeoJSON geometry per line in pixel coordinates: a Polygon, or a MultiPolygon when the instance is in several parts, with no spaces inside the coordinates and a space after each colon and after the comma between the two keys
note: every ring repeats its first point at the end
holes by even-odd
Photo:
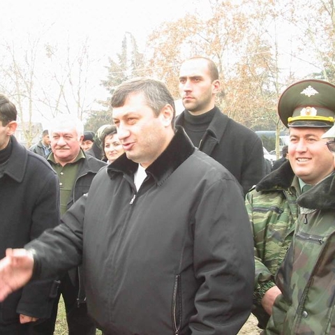
{"type": "Polygon", "coordinates": [[[200,115],[192,115],[188,110],[185,110],[184,129],[195,147],[199,147],[200,141],[209,127],[214,113],[214,108],[200,115]]]}

